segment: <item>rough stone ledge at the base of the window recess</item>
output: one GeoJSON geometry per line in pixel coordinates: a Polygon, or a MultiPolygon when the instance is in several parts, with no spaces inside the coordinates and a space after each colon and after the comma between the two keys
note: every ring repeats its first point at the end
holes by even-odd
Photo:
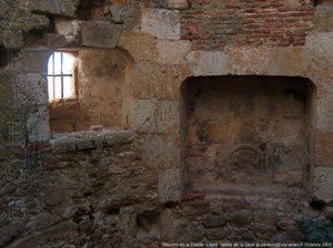
{"type": "Polygon", "coordinates": [[[56,153],[69,153],[130,144],[134,137],[131,131],[110,128],[56,134],[50,144],[56,153]]]}

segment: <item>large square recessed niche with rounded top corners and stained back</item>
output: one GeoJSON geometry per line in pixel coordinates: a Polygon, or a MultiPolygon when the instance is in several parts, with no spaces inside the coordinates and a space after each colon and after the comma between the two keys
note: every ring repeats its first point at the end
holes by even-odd
{"type": "Polygon", "coordinates": [[[185,188],[306,186],[313,151],[312,82],[286,76],[201,76],[182,85],[185,188]]]}

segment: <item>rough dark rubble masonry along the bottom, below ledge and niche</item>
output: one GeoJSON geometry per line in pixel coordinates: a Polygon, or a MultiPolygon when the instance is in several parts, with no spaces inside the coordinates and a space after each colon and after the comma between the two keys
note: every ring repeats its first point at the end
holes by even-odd
{"type": "MultiPolygon", "coordinates": [[[[58,134],[3,197],[1,247],[159,247],[162,242],[301,241],[299,221],[317,214],[305,192],[183,192],[161,204],[159,170],[129,131],[58,134]],[[21,194],[21,195],[20,195],[21,194]],[[19,196],[20,195],[20,196],[19,196]]],[[[36,147],[34,147],[36,148],[36,147]]],[[[31,147],[33,151],[33,147],[31,147]]],[[[171,182],[169,182],[171,184],[171,182]]]]}

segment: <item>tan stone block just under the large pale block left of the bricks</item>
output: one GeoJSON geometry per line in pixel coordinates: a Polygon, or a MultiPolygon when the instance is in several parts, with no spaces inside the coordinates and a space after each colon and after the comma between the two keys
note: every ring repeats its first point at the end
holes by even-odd
{"type": "Polygon", "coordinates": [[[189,41],[158,41],[158,62],[161,64],[180,64],[191,50],[189,41]]]}

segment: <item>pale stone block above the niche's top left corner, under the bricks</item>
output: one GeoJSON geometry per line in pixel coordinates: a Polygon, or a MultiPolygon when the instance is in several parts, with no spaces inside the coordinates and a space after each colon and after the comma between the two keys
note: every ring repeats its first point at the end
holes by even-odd
{"type": "Polygon", "coordinates": [[[220,51],[195,51],[186,56],[191,72],[195,75],[225,75],[228,74],[224,52],[220,51]]]}

